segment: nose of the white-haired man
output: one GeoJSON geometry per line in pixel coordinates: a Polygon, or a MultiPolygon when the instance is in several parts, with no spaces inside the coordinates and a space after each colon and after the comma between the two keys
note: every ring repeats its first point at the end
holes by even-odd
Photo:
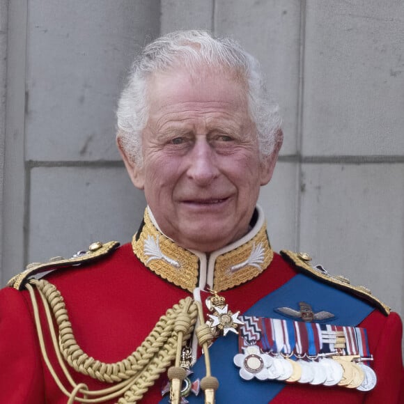
{"type": "Polygon", "coordinates": [[[187,176],[198,185],[209,185],[212,180],[219,176],[215,150],[210,146],[205,137],[196,139],[188,157],[187,176]]]}

